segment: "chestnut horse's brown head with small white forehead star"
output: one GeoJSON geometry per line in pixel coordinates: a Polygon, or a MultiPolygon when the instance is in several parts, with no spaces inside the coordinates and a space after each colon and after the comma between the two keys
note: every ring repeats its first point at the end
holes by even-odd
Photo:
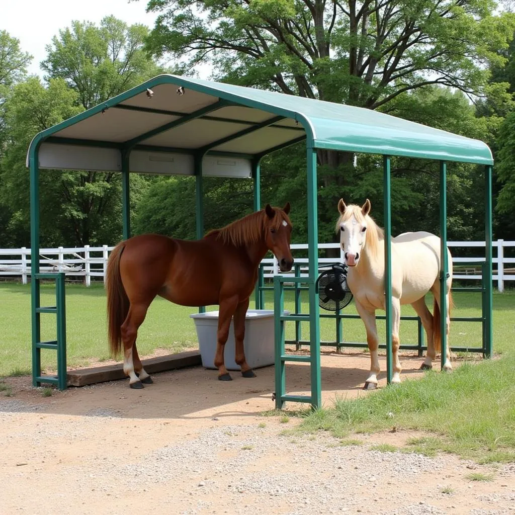
{"type": "Polygon", "coordinates": [[[265,241],[268,250],[272,251],[279,262],[281,272],[289,272],[293,266],[290,250],[291,222],[288,218],[290,204],[286,202],[283,209],[265,207],[265,241]]]}

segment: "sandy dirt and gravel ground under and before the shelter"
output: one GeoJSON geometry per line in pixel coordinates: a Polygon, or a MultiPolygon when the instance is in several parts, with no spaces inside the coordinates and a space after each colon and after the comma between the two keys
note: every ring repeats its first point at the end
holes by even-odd
{"type": "MultiPolygon", "coordinates": [[[[422,374],[422,358],[401,361],[403,378],[422,374]]],[[[321,363],[325,404],[368,394],[368,355],[324,353],[321,363]]],[[[231,374],[226,383],[194,367],[156,374],[143,390],[117,381],[50,397],[28,377],[6,379],[0,513],[515,513],[515,465],[370,450],[411,432],[358,435],[356,446],[287,436],[298,420],[260,415],[274,407],[273,367],[254,379],[231,374]],[[470,482],[472,471],[491,482],[470,482]]],[[[309,367],[288,365],[288,393],[308,388],[309,367]]]]}

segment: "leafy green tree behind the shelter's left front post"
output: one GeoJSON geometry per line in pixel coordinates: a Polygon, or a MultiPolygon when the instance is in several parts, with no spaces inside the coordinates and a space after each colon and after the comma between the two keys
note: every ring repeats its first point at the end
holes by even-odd
{"type": "MultiPolygon", "coordinates": [[[[29,174],[25,156],[38,132],[80,111],[78,94],[63,79],[44,87],[31,77],[16,85],[7,101],[8,146],[0,161],[0,203],[10,210],[0,246],[30,244],[29,174]]],[[[131,181],[136,201],[144,180],[131,181]]],[[[122,186],[119,174],[72,170],[40,171],[41,244],[77,245],[114,243],[121,238],[122,186]]]]}

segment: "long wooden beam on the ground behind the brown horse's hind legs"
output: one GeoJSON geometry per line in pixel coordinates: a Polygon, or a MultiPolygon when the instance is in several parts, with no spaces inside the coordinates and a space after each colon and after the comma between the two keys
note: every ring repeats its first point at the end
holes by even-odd
{"type": "MultiPolygon", "coordinates": [[[[177,368],[201,365],[199,351],[179,352],[149,359],[142,359],[143,366],[149,374],[174,370],[177,368]]],[[[82,368],[68,371],[68,386],[85,386],[94,383],[104,383],[124,379],[123,364],[107,365],[104,367],[82,368]]]]}

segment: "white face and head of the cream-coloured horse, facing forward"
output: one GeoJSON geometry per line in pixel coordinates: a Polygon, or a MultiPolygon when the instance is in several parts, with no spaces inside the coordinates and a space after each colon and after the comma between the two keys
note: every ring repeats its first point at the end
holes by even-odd
{"type": "Polygon", "coordinates": [[[356,266],[359,256],[365,247],[367,227],[370,217],[370,200],[360,208],[358,205],[346,205],[344,199],[338,202],[340,216],[336,222],[336,232],[340,233],[341,250],[344,251],[344,263],[347,266],[356,266]]]}

